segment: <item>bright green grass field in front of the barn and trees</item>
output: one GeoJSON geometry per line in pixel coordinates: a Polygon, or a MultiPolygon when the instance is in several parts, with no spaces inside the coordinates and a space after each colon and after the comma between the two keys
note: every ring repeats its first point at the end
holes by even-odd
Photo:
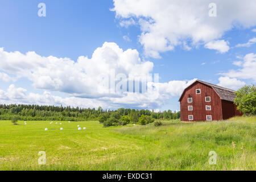
{"type": "Polygon", "coordinates": [[[256,117],[160,127],[49,123],[0,121],[0,170],[255,170],[256,117]],[[39,151],[46,165],[38,164],[39,151]],[[208,162],[210,151],[216,165],[208,162]]]}

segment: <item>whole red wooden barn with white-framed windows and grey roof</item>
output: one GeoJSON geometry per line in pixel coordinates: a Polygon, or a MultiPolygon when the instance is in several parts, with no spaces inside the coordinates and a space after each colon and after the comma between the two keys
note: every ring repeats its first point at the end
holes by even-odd
{"type": "Polygon", "coordinates": [[[234,104],[234,90],[196,80],[180,96],[181,121],[212,121],[242,115],[234,104]]]}

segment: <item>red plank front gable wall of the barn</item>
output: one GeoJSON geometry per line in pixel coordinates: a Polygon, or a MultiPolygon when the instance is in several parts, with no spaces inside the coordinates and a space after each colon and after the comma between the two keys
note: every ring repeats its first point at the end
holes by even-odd
{"type": "Polygon", "coordinates": [[[188,115],[193,115],[193,121],[206,121],[206,115],[212,115],[212,120],[222,119],[220,97],[210,86],[195,82],[185,90],[180,99],[181,121],[189,121],[188,115]],[[201,89],[201,94],[196,94],[196,89],[201,89]],[[192,103],[188,103],[189,95],[192,103]],[[210,102],[205,102],[207,96],[210,96],[210,102]],[[193,106],[193,111],[188,111],[188,105],[193,106]],[[207,111],[205,105],[211,105],[212,110],[207,111]]]}

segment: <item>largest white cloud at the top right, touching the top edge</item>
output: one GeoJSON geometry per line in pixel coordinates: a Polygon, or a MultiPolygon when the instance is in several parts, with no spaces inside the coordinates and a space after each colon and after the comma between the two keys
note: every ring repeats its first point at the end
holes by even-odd
{"type": "MultiPolygon", "coordinates": [[[[146,56],[159,58],[159,53],[176,46],[198,46],[220,39],[234,27],[256,25],[256,1],[216,0],[217,16],[210,17],[211,0],[113,0],[116,18],[133,20],[141,27],[139,42],[146,56]]],[[[225,46],[224,51],[227,49],[225,46]]]]}

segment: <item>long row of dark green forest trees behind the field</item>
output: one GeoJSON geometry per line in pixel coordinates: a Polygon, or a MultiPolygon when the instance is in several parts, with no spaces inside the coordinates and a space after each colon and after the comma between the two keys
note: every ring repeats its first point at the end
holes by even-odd
{"type": "Polygon", "coordinates": [[[6,105],[0,104],[0,120],[11,120],[14,116],[19,117],[24,121],[98,121],[104,117],[106,119],[110,116],[114,118],[121,118],[128,116],[132,123],[139,122],[142,115],[150,116],[154,119],[179,119],[179,112],[160,111],[148,109],[125,109],[119,108],[117,110],[106,110],[98,107],[95,108],[81,108],[71,106],[40,106],[40,105],[6,105]]]}

